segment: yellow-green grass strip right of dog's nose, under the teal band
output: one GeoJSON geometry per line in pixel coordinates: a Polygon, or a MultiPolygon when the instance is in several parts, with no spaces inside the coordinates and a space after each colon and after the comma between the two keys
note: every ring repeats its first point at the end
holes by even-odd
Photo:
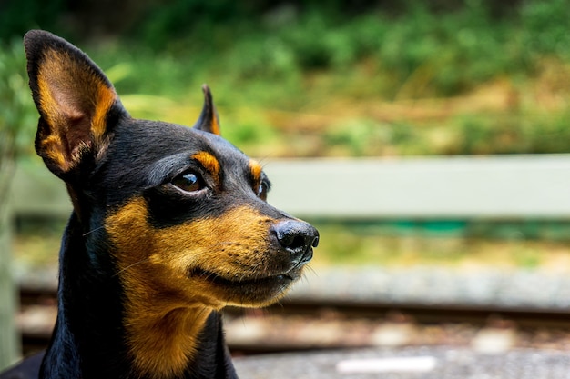
{"type": "MultiPolygon", "coordinates": [[[[317,224],[321,244],[314,266],[347,264],[379,267],[417,265],[471,269],[534,269],[567,271],[570,248],[565,241],[511,237],[453,235],[408,228],[394,233],[378,224],[317,224]]],[[[403,226],[403,225],[401,225],[403,226]]],[[[408,225],[409,226],[409,225],[408,225]]],[[[505,226],[503,226],[505,228],[505,226]]]]}

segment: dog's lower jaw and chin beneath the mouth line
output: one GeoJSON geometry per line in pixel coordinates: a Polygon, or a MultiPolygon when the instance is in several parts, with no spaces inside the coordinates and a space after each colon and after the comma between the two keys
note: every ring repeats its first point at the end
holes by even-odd
{"type": "Polygon", "coordinates": [[[194,269],[189,276],[209,284],[212,293],[217,294],[216,297],[223,304],[252,307],[278,301],[290,285],[300,278],[301,272],[302,266],[287,273],[228,278],[206,270],[194,269]]]}

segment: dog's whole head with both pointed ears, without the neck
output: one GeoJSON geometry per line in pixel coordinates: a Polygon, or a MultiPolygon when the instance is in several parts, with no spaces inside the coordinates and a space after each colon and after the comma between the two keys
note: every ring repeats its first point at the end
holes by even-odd
{"type": "Polygon", "coordinates": [[[111,254],[127,299],[159,312],[262,305],[300,276],[319,234],[267,204],[267,176],[219,136],[208,87],[192,128],[133,119],[75,46],[32,31],[25,50],[36,151],[66,182],[90,250],[111,254]]]}

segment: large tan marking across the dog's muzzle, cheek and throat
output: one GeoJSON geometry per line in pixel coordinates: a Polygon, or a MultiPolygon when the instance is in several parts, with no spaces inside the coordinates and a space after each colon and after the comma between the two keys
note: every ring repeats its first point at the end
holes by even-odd
{"type": "Polygon", "coordinates": [[[107,218],[106,229],[127,297],[125,327],[134,362],[141,373],[166,377],[182,373],[211,310],[274,299],[276,294],[239,297],[188,274],[196,268],[235,280],[271,274],[273,220],[246,207],[164,229],[147,220],[147,204],[135,198],[107,218]]]}

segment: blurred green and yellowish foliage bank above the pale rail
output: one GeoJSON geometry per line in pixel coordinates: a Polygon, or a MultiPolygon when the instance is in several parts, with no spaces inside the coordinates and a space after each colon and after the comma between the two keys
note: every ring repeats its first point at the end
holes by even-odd
{"type": "MultiPolygon", "coordinates": [[[[192,125],[209,83],[224,135],[250,154],[570,152],[568,0],[35,2],[2,3],[0,36],[39,26],[68,37],[136,116],[192,125]],[[416,101],[497,82],[509,104],[412,115],[416,101]]],[[[20,59],[3,73],[22,75],[19,47],[0,48],[20,59]]],[[[3,88],[4,112],[18,112],[25,85],[3,88]]]]}

